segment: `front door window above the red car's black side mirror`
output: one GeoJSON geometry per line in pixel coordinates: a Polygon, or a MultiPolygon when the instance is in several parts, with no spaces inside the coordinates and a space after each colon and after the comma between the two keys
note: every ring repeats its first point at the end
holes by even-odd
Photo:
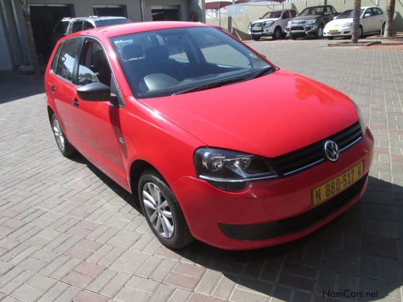
{"type": "Polygon", "coordinates": [[[110,86],[111,70],[102,47],[87,39],[80,58],[78,85],[103,83],[110,86]]]}

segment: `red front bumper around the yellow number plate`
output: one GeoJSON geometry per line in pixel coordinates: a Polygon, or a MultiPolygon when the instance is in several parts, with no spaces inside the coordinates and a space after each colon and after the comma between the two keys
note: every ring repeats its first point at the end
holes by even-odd
{"type": "MultiPolygon", "coordinates": [[[[313,232],[362,197],[367,185],[366,179],[362,180],[361,187],[356,187],[357,192],[346,197],[347,201],[342,200],[338,207],[320,213],[314,223],[301,225],[302,222],[298,222],[293,230],[281,230],[280,233],[273,229],[278,228],[281,221],[295,220],[323,205],[331,204],[332,199],[313,207],[312,188],[361,161],[364,162],[364,175],[367,175],[373,157],[373,143],[372,134],[367,129],[364,138],[344,152],[336,163],[325,162],[286,178],[253,182],[239,192],[225,192],[192,177],[179,178],[170,186],[183,210],[190,232],[196,239],[229,250],[277,245],[313,232]]],[[[343,192],[335,197],[340,197],[343,192]]]]}

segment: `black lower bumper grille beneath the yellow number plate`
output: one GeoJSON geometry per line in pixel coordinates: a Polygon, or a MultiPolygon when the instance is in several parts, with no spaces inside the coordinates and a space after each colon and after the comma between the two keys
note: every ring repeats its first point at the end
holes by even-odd
{"type": "Polygon", "coordinates": [[[341,209],[348,204],[354,197],[358,196],[362,191],[368,174],[358,180],[347,190],[339,195],[330,198],[323,204],[314,207],[313,209],[300,215],[279,220],[280,229],[286,234],[297,233],[308,229],[310,226],[320,222],[324,218],[330,216],[335,211],[341,209]]]}

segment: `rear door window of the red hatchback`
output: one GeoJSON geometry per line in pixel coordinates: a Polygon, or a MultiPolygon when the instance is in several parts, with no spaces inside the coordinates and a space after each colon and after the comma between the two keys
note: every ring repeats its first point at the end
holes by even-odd
{"type": "Polygon", "coordinates": [[[73,81],[74,62],[80,41],[81,38],[65,41],[57,60],[56,74],[70,82],[73,81]]]}

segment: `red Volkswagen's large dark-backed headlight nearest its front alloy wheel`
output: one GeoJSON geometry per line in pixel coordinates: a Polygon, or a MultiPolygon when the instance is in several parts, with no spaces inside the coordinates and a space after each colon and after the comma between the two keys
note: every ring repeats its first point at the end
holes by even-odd
{"type": "Polygon", "coordinates": [[[266,158],[226,149],[198,148],[194,167],[198,178],[226,191],[244,189],[251,181],[277,177],[266,158]]]}

